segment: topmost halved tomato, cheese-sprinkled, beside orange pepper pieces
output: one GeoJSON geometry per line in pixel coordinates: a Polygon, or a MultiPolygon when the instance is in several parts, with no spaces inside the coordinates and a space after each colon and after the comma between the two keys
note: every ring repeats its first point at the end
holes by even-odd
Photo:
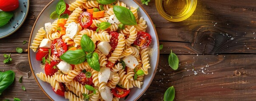
{"type": "Polygon", "coordinates": [[[83,12],[80,14],[78,21],[83,28],[87,28],[93,24],[93,15],[89,12],[83,12]]]}

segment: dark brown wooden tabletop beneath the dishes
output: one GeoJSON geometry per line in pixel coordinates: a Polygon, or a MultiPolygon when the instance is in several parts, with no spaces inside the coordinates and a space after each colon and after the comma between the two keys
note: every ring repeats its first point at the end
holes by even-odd
{"type": "MultiPolygon", "coordinates": [[[[0,71],[14,70],[15,81],[0,100],[17,97],[23,101],[48,101],[33,76],[29,76],[28,43],[37,16],[51,0],[30,0],[23,26],[0,39],[0,61],[11,53],[13,61],[0,62],[0,71]],[[17,53],[16,48],[25,52],[17,53]],[[19,83],[19,77],[23,82],[19,83]],[[26,91],[21,89],[25,86],[26,91]]],[[[140,3],[140,0],[137,0],[140,3]]],[[[175,100],[256,100],[256,0],[198,0],[193,15],[182,22],[163,19],[155,0],[143,8],[156,25],[160,61],[155,78],[139,101],[161,101],[167,88],[174,86],[175,100]],[[254,34],[255,32],[255,34],[254,34]],[[180,59],[179,69],[168,65],[170,50],[180,59]],[[195,75],[193,67],[197,71],[195,75]]]]}

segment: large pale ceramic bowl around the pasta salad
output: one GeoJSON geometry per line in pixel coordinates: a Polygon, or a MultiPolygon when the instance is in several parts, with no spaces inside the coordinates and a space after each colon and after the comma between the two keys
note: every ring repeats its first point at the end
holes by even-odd
{"type": "MultiPolygon", "coordinates": [[[[41,27],[44,27],[44,24],[47,22],[53,22],[52,19],[50,19],[50,14],[55,11],[56,4],[59,0],[53,0],[51,1],[46,7],[42,10],[42,12],[39,14],[34,27],[31,31],[30,39],[29,39],[29,46],[31,45],[31,41],[34,40],[35,35],[37,34],[37,30],[41,27]]],[[[74,1],[74,0],[73,0],[74,1]]],[[[73,3],[73,1],[65,0],[66,3],[70,4],[73,3]]],[[[150,66],[149,74],[144,77],[143,85],[141,86],[141,89],[138,88],[132,88],[129,97],[126,99],[127,101],[136,101],[139,97],[146,91],[146,89],[149,87],[150,83],[152,82],[155,72],[157,70],[158,66],[158,59],[159,59],[159,43],[158,43],[158,36],[156,33],[156,29],[154,27],[154,24],[152,23],[152,20],[150,19],[149,15],[146,13],[146,11],[137,3],[135,0],[120,0],[121,2],[126,3],[127,7],[133,6],[133,7],[140,7],[138,15],[139,17],[143,16],[143,19],[146,20],[148,24],[148,28],[146,29],[146,32],[149,33],[152,36],[152,53],[150,53],[150,66]]],[[[32,74],[34,75],[34,78],[36,79],[39,87],[42,89],[42,91],[45,93],[48,98],[54,101],[68,101],[68,99],[65,99],[62,96],[58,96],[56,93],[53,92],[51,85],[47,82],[43,82],[40,80],[35,74],[39,72],[44,72],[44,69],[40,68],[41,61],[37,61],[35,59],[36,53],[34,53],[28,46],[28,59],[30,68],[32,71],[32,74]]],[[[120,99],[120,101],[124,101],[124,99],[120,99]]]]}

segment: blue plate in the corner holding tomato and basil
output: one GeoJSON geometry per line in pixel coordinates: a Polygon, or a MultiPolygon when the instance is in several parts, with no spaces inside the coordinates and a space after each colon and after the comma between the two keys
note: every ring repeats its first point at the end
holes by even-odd
{"type": "Polygon", "coordinates": [[[29,0],[19,0],[19,8],[14,10],[13,19],[9,24],[0,27],[0,39],[16,32],[28,15],[29,0]]]}

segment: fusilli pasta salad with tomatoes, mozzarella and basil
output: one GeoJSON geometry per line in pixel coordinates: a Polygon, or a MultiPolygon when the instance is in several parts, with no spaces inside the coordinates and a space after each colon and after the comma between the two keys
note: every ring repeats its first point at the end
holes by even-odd
{"type": "Polygon", "coordinates": [[[141,88],[152,38],[137,8],[119,0],[59,0],[55,21],[30,46],[45,70],[37,77],[70,101],[119,101],[141,88]]]}

